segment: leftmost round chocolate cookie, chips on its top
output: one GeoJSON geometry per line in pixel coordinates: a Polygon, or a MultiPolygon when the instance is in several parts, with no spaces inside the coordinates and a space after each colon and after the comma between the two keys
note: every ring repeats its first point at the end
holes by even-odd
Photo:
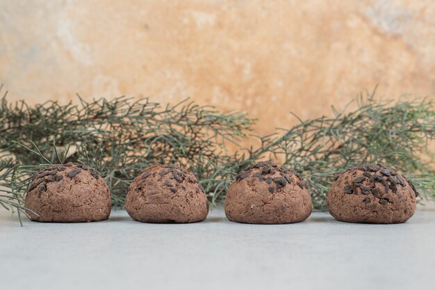
{"type": "Polygon", "coordinates": [[[24,206],[32,220],[77,223],[106,220],[110,191],[97,170],[76,163],[38,171],[28,186],[24,206]]]}

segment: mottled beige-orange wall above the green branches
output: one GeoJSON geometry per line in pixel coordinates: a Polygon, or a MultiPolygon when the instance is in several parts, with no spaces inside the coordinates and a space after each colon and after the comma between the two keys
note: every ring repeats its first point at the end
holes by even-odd
{"type": "Polygon", "coordinates": [[[258,134],[379,95],[435,96],[435,2],[0,0],[10,99],[192,97],[258,134]]]}

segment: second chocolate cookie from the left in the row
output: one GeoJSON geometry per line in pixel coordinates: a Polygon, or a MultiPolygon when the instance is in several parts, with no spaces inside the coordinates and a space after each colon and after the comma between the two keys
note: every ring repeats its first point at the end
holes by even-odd
{"type": "Polygon", "coordinates": [[[208,200],[193,173],[155,165],[130,184],[125,208],[142,223],[194,223],[206,219],[208,200]]]}

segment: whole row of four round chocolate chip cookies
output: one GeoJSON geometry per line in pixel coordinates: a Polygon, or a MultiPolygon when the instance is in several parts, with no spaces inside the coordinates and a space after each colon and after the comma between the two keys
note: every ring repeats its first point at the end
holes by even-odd
{"type": "MultiPolygon", "coordinates": [[[[384,165],[350,168],[336,177],[327,195],[329,212],[354,223],[402,223],[416,209],[416,188],[384,165]]],[[[37,172],[25,207],[41,222],[91,222],[110,215],[110,191],[99,172],[76,163],[37,172]]],[[[151,166],[130,184],[126,211],[145,223],[192,223],[208,214],[208,200],[192,172],[151,166]]],[[[268,161],[248,166],[229,186],[224,204],[229,220],[240,223],[297,223],[312,211],[304,179],[268,161]]]]}

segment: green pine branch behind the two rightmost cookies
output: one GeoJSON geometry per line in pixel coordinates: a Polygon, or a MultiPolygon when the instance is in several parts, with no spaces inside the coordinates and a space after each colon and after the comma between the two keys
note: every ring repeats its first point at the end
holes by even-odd
{"type": "Polygon", "coordinates": [[[281,134],[259,137],[260,147],[215,166],[227,171],[204,187],[213,200],[222,200],[234,172],[253,161],[274,160],[299,172],[309,186],[314,208],[325,210],[336,175],[361,163],[379,162],[404,172],[422,191],[422,198],[434,200],[433,154],[428,148],[435,138],[433,103],[426,99],[382,102],[373,95],[361,95],[356,102],[359,107],[350,113],[300,120],[291,129],[281,129],[281,134]]]}

